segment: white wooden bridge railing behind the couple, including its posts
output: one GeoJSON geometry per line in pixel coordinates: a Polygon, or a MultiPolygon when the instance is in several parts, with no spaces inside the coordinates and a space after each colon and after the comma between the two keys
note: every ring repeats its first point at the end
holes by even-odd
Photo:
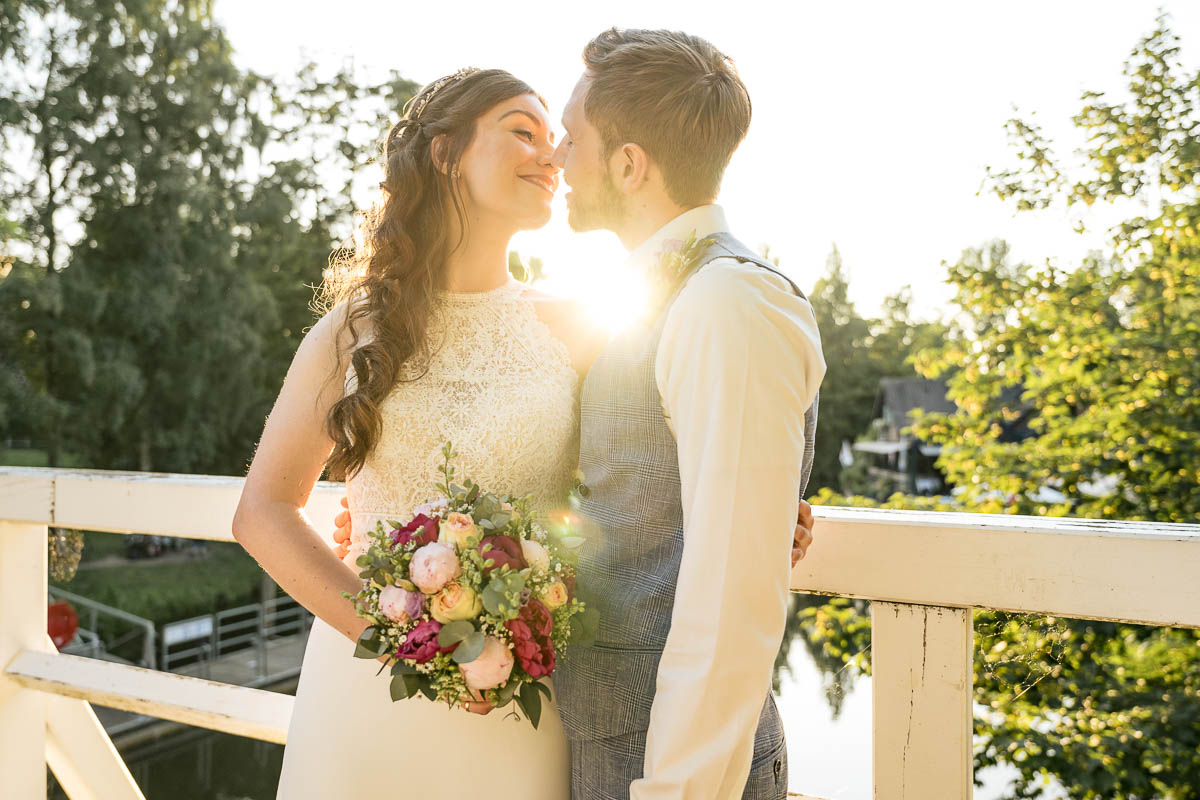
{"type": "MultiPolygon", "coordinates": [[[[90,703],[282,742],[293,698],[61,655],[46,633],[47,528],[232,541],[241,479],[0,468],[0,796],[142,793],[90,703]]],[[[342,488],[308,515],[332,530],[342,488]]],[[[880,800],[972,793],[973,608],[1200,627],[1200,525],[816,509],[792,590],[872,602],[880,800]]]]}

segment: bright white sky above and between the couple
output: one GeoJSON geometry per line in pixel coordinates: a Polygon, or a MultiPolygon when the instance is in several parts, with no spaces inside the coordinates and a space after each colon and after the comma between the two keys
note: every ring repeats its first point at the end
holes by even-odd
{"type": "MultiPolygon", "coordinates": [[[[1004,237],[1019,259],[1070,265],[1104,245],[1111,210],[1088,211],[1094,233],[1081,236],[1078,210],[1018,215],[980,187],[988,166],[1014,163],[1003,130],[1014,114],[1042,125],[1064,155],[1079,146],[1070,118],[1080,94],[1121,96],[1121,66],[1159,8],[1196,68],[1194,0],[216,0],[215,13],[239,64],[266,74],[294,73],[304,58],[353,58],[418,83],[500,67],[541,92],[554,120],[583,44],[605,28],[703,36],[733,58],[754,103],[719,198],[733,233],[769,245],[803,289],[836,245],[862,313],[911,285],[916,311],[938,317],[950,296],[942,263],[967,247],[1004,237]]],[[[625,252],[611,234],[571,233],[563,194],[551,223],[514,247],[545,261],[551,290],[617,309],[625,252]]]]}

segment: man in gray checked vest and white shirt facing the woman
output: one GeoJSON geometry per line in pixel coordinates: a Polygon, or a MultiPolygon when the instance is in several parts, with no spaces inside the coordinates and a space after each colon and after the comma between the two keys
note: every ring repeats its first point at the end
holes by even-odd
{"type": "Polygon", "coordinates": [[[614,231],[662,290],[582,390],[580,581],[600,627],[554,672],[572,798],[782,799],[770,672],[820,335],[800,290],[713,205],[750,125],[728,58],[697,36],[613,29],[583,61],[554,156],[570,224],[614,231]]]}

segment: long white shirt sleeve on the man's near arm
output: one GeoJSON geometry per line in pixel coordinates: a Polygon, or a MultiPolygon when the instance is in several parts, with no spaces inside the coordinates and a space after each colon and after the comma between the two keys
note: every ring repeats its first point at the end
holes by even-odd
{"type": "Polygon", "coordinates": [[[655,381],[684,547],[632,800],[742,796],[787,616],[804,411],[824,359],[808,301],[720,259],[668,309],[655,381]]]}

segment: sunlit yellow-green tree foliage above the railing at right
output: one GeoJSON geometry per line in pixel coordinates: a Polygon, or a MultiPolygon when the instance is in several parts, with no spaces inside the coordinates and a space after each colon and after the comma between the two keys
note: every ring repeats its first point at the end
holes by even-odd
{"type": "Polygon", "coordinates": [[[1075,176],[1037,128],[1010,126],[1025,169],[994,173],[1001,197],[1152,211],[1074,270],[1008,264],[1000,243],[950,266],[968,314],[918,368],[947,377],[965,413],[917,432],[943,445],[940,464],[968,500],[1000,492],[1022,512],[1200,522],[1200,82],[1177,54],[1159,19],[1126,65],[1130,100],[1085,95],[1075,176]],[[1002,422],[1019,417],[1034,435],[1006,441],[1002,422]]]}

